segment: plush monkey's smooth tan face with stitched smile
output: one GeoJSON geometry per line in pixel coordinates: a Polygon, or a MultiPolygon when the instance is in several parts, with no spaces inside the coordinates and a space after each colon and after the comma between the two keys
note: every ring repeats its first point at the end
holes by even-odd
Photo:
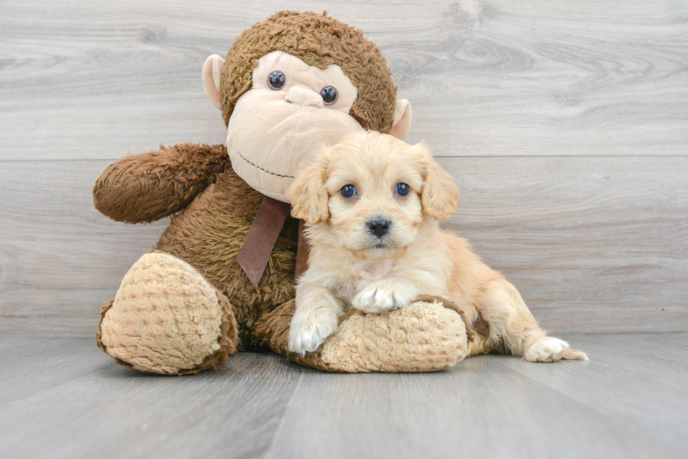
{"type": "Polygon", "coordinates": [[[296,172],[323,145],[363,130],[349,114],[356,97],[338,65],[318,69],[282,51],[261,57],[227,126],[234,171],[253,189],[289,203],[296,172]]]}

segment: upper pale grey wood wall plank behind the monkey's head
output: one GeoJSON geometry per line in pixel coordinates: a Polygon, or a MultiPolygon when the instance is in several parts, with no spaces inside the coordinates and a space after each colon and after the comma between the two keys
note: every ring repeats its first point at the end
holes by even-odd
{"type": "Polygon", "coordinates": [[[281,9],[356,25],[443,156],[685,155],[688,4],[584,1],[4,1],[4,159],[116,159],[222,142],[201,66],[281,9]]]}

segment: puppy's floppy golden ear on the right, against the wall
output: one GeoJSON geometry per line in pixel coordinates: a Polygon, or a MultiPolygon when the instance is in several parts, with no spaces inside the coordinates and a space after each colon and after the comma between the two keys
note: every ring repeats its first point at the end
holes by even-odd
{"type": "Polygon", "coordinates": [[[436,220],[449,218],[458,205],[458,186],[454,178],[439,167],[437,161],[432,158],[432,152],[423,145],[417,145],[421,149],[423,159],[423,188],[421,189],[421,205],[423,213],[436,220]]]}

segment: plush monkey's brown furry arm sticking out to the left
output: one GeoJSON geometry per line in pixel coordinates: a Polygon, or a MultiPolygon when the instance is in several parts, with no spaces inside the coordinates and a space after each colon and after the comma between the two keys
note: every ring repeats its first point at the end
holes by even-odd
{"type": "Polygon", "coordinates": [[[93,203],[113,220],[147,223],[182,210],[229,165],[224,145],[161,146],[108,166],[93,203]]]}

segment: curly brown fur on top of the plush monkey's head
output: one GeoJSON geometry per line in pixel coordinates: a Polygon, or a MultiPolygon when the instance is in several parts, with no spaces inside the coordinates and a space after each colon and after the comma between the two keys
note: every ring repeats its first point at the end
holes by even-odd
{"type": "Polygon", "coordinates": [[[295,11],[259,22],[232,44],[220,79],[225,125],[239,97],[251,89],[258,59],[272,51],[284,51],[319,69],[337,64],[358,89],[350,115],[366,129],[385,134],[392,130],[397,87],[379,48],[361,30],[326,14],[295,11]]]}

